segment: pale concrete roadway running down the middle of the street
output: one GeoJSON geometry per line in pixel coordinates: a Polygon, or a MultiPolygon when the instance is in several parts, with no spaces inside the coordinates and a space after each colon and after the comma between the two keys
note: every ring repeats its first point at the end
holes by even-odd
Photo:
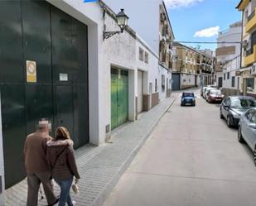
{"type": "Polygon", "coordinates": [[[249,206],[255,194],[253,153],[218,105],[177,98],[104,206],[249,206]]]}

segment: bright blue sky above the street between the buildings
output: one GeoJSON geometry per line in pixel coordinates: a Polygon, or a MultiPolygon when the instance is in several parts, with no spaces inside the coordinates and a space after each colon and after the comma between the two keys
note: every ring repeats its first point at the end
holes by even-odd
{"type": "MultiPolygon", "coordinates": [[[[204,36],[210,31],[198,32],[210,27],[212,31],[229,28],[229,25],[241,20],[242,14],[235,7],[239,0],[165,0],[176,41],[216,41],[217,36],[204,36]]],[[[210,35],[210,34],[209,34],[210,35]]],[[[187,46],[195,46],[188,44],[187,46]]],[[[200,45],[200,49],[215,50],[216,45],[200,45]]]]}

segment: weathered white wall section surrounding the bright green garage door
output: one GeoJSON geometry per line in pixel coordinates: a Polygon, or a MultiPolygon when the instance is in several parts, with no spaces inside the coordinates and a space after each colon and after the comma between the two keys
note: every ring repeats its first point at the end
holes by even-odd
{"type": "MultiPolygon", "coordinates": [[[[106,14],[105,25],[107,31],[118,31],[119,26],[112,17],[106,14]]],[[[135,120],[135,94],[137,92],[136,72],[136,39],[127,31],[99,40],[99,144],[104,143],[105,127],[111,123],[111,66],[128,70],[128,117],[135,120]]]]}

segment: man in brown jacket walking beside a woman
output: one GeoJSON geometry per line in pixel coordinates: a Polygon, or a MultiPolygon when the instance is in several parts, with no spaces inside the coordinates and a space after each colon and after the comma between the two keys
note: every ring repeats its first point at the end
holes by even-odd
{"type": "Polygon", "coordinates": [[[38,190],[43,185],[47,203],[55,205],[59,199],[53,194],[51,187],[51,171],[46,161],[46,142],[49,136],[49,122],[39,122],[36,132],[27,136],[24,146],[25,166],[27,170],[27,206],[37,206],[38,190]]]}

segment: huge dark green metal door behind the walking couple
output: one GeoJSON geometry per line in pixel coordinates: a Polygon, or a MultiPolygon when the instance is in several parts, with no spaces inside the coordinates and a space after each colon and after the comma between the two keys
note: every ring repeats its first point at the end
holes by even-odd
{"type": "Polygon", "coordinates": [[[24,141],[42,117],[53,130],[67,127],[75,148],[89,141],[87,33],[85,24],[45,0],[0,1],[6,188],[26,176],[24,141]],[[27,60],[36,62],[36,82],[27,82],[27,60]]]}

